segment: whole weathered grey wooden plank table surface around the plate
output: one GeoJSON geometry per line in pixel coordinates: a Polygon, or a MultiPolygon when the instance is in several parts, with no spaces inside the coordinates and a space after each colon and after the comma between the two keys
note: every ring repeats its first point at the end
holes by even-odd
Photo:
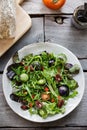
{"type": "Polygon", "coordinates": [[[77,30],[71,24],[74,9],[87,0],[66,0],[58,11],[46,8],[42,0],[25,0],[21,5],[32,18],[32,28],[0,58],[0,129],[2,130],[87,130],[87,86],[79,106],[66,117],[51,123],[34,123],[15,114],[2,91],[2,75],[9,58],[24,45],[54,42],[67,47],[79,59],[87,83],[87,30],[77,30]],[[59,18],[63,20],[58,23],[59,18]]]}

